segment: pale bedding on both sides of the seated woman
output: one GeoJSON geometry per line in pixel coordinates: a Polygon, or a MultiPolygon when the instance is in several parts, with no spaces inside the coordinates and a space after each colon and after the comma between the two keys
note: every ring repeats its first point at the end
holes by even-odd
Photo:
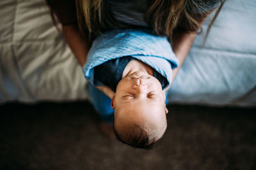
{"type": "MultiPolygon", "coordinates": [[[[88,99],[44,0],[3,0],[0,9],[0,103],[88,99]]],[[[255,16],[255,0],[226,1],[204,46],[204,34],[197,36],[170,103],[256,106],[255,16]]]]}

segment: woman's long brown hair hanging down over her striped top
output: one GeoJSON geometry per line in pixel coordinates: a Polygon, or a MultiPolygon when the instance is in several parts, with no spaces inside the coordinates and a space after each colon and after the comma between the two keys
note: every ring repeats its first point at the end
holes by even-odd
{"type": "MultiPolygon", "coordinates": [[[[202,31],[202,22],[211,13],[198,13],[196,9],[206,11],[204,3],[198,0],[148,0],[149,8],[144,13],[144,20],[159,36],[167,36],[170,40],[175,29],[185,31],[202,31]]],[[[220,0],[218,7],[209,27],[207,34],[220,12],[225,0],[220,0]]],[[[106,0],[76,0],[77,20],[80,31],[95,34],[110,28],[125,28],[129,25],[115,20],[109,11],[106,0]]]]}

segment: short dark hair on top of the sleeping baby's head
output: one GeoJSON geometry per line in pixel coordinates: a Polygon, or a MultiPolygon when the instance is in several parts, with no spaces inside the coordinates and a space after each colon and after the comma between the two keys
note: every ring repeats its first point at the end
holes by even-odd
{"type": "Polygon", "coordinates": [[[115,124],[113,124],[113,130],[116,135],[116,139],[126,145],[132,146],[134,148],[142,148],[145,150],[150,150],[154,148],[154,146],[157,143],[156,139],[150,139],[150,136],[148,132],[146,132],[140,125],[133,125],[131,127],[134,131],[134,136],[126,135],[123,138],[126,138],[126,140],[122,139],[118,132],[115,129],[115,124]]]}

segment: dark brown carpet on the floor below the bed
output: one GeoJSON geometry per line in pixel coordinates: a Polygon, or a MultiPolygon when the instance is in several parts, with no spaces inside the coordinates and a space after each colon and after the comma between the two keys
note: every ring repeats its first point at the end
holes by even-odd
{"type": "Polygon", "coordinates": [[[109,141],[86,102],[0,106],[0,169],[256,169],[256,110],[168,106],[153,150],[109,141]]]}

